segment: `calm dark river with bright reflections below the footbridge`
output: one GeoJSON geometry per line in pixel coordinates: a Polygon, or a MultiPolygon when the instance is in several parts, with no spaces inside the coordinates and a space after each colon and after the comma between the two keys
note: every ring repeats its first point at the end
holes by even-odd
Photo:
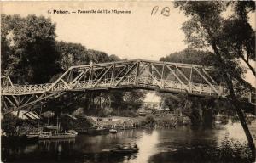
{"type": "MultiPolygon", "coordinates": [[[[256,122],[250,125],[256,135],[256,122]]],[[[207,149],[219,147],[225,137],[245,143],[240,123],[229,121],[227,125],[213,129],[135,129],[99,136],[78,135],[75,139],[39,141],[21,146],[2,146],[2,160],[16,162],[102,162],[102,163],[171,163],[206,162],[207,149]],[[137,143],[139,151],[134,155],[102,155],[102,149],[116,144],[137,143]],[[191,160],[191,158],[193,158],[191,160]]],[[[209,160],[210,161],[210,160],[209,160]]]]}

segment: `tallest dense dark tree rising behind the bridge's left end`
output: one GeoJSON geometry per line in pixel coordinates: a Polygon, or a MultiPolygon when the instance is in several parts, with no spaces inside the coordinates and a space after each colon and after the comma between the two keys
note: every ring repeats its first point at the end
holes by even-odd
{"type": "Polygon", "coordinates": [[[44,16],[2,14],[3,74],[18,83],[49,82],[59,70],[55,24],[44,16]]]}

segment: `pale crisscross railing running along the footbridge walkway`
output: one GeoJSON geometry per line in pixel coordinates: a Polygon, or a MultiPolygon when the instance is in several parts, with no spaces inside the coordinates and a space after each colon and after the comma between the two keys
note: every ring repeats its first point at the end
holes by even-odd
{"type": "MultiPolygon", "coordinates": [[[[207,84],[199,84],[193,82],[181,82],[172,81],[172,80],[160,80],[153,79],[150,76],[127,76],[125,79],[119,78],[106,78],[101,82],[97,81],[80,81],[76,85],[73,86],[72,82],[57,83],[54,87],[52,87],[51,91],[65,91],[69,89],[83,89],[83,88],[92,88],[92,87],[118,87],[116,83],[119,82],[119,86],[144,86],[144,87],[159,87],[172,89],[174,91],[189,91],[190,93],[207,93],[207,94],[222,94],[224,93],[224,87],[221,86],[209,86],[207,84]],[[120,82],[120,80],[122,80],[120,82]],[[216,93],[213,88],[218,91],[216,93]]],[[[2,93],[44,93],[46,92],[51,83],[46,84],[37,84],[37,85],[14,85],[9,87],[2,87],[2,93]]]]}

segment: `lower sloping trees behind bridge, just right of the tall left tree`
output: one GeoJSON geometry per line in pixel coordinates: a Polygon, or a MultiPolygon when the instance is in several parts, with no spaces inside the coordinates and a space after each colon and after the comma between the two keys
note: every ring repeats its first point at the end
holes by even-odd
{"type": "MultiPolygon", "coordinates": [[[[79,43],[72,42],[56,42],[56,50],[60,53],[60,63],[62,72],[51,78],[51,82],[61,76],[63,71],[67,70],[72,65],[87,65],[90,61],[93,63],[104,63],[113,62],[120,60],[116,55],[108,55],[108,53],[100,52],[97,50],[89,49],[87,50],[83,45],[79,43]]],[[[92,99],[101,96],[102,98],[109,97],[111,101],[111,110],[113,109],[115,113],[119,114],[119,109],[128,110],[131,109],[133,112],[137,110],[145,97],[145,93],[139,90],[133,90],[131,92],[121,92],[121,91],[111,91],[108,93],[86,93],[80,95],[80,97],[64,95],[61,98],[52,100],[49,102],[48,107],[55,107],[55,110],[60,112],[70,110],[76,110],[81,107],[87,109],[86,114],[89,115],[104,115],[103,112],[110,113],[109,108],[101,108],[101,110],[96,109],[96,105],[92,104],[92,99]],[[77,101],[73,104],[73,101],[77,101]],[[63,104],[65,108],[63,108],[63,104]]],[[[105,106],[102,106],[105,107],[105,106]]],[[[106,115],[106,114],[105,114],[106,115]]]]}

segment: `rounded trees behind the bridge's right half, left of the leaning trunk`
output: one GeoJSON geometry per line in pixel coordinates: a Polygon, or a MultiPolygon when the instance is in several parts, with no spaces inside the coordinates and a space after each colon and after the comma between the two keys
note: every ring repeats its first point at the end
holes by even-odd
{"type": "MultiPolygon", "coordinates": [[[[168,56],[161,58],[160,61],[212,66],[214,65],[214,54],[209,51],[186,48],[180,52],[171,53],[168,56]]],[[[190,70],[184,71],[183,73],[185,76],[189,76],[190,70]]],[[[214,79],[221,79],[221,76],[218,76],[218,72],[214,70],[209,72],[209,74],[211,74],[214,79]]],[[[180,75],[177,74],[177,76],[180,75]]],[[[201,76],[194,76],[193,78],[193,82],[201,82],[201,76]]],[[[206,102],[209,102],[209,99],[187,97],[183,94],[177,94],[176,96],[178,100],[177,98],[173,98],[173,95],[160,94],[161,99],[165,101],[165,104],[169,109],[176,113],[182,113],[183,115],[188,116],[192,126],[212,126],[218,108],[211,104],[207,104],[206,102]],[[205,121],[207,119],[206,116],[209,121],[205,121]]]]}

